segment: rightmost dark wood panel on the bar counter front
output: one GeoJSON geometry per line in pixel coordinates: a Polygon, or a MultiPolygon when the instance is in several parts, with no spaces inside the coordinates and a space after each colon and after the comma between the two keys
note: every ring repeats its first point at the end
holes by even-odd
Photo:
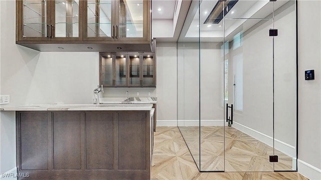
{"type": "Polygon", "coordinates": [[[117,115],[118,169],[146,169],[146,154],[149,151],[149,145],[146,145],[146,142],[149,144],[149,137],[146,135],[149,127],[146,124],[146,113],[127,111],[118,112],[117,115]]]}

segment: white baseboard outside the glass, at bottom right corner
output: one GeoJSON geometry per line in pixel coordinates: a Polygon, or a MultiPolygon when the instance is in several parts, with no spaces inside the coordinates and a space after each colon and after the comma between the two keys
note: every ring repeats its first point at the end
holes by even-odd
{"type": "Polygon", "coordinates": [[[321,169],[301,159],[297,159],[297,171],[311,180],[321,179],[321,169]]]}

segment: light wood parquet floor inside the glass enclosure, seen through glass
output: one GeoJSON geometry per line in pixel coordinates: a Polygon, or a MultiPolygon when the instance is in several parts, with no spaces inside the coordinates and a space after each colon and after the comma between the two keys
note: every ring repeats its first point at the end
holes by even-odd
{"type": "Polygon", "coordinates": [[[269,162],[271,146],[233,127],[225,126],[225,167],[224,126],[201,126],[201,132],[198,126],[181,126],[180,130],[201,170],[273,171],[273,165],[275,170],[292,170],[292,157],[275,149],[279,160],[269,162]]]}

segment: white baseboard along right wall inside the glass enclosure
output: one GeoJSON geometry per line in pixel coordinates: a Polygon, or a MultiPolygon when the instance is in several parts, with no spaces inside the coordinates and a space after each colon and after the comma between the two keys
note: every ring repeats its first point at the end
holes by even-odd
{"type": "MultiPolygon", "coordinates": [[[[259,141],[269,145],[269,146],[273,146],[273,137],[264,134],[262,132],[259,132],[255,129],[252,129],[248,126],[245,126],[243,124],[240,124],[238,122],[233,122],[232,127],[258,139],[259,141]]],[[[290,145],[286,142],[283,142],[279,139],[275,139],[274,141],[274,148],[285,153],[286,155],[290,156],[290,157],[295,157],[296,156],[296,150],[295,147],[293,145],[290,145]]],[[[295,170],[295,169],[293,169],[295,170]]]]}

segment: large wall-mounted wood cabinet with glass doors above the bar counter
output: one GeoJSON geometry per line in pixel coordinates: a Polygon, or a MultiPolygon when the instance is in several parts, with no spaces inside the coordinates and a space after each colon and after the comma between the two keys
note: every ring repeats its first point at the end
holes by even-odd
{"type": "Polygon", "coordinates": [[[40,51],[151,51],[150,0],[17,0],[16,43],[40,51]]]}

